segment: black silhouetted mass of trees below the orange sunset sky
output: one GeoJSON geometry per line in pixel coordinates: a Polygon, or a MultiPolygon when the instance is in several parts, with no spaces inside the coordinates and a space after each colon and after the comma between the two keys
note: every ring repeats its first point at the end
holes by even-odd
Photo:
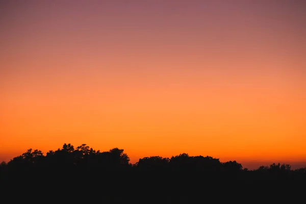
{"type": "Polygon", "coordinates": [[[289,164],[243,168],[236,161],[180,154],[139,159],[123,149],[94,150],[64,144],[46,155],[29,149],[0,165],[3,195],[10,202],[100,203],[293,202],[306,192],[306,169],[289,164]],[[21,197],[20,197],[21,196],[21,197]]]}

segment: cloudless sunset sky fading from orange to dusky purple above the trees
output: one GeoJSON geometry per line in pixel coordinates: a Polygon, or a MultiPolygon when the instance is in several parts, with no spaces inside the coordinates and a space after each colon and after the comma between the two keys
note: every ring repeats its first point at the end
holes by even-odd
{"type": "Polygon", "coordinates": [[[304,1],[0,2],[0,161],[64,143],[306,167],[304,1]]]}

